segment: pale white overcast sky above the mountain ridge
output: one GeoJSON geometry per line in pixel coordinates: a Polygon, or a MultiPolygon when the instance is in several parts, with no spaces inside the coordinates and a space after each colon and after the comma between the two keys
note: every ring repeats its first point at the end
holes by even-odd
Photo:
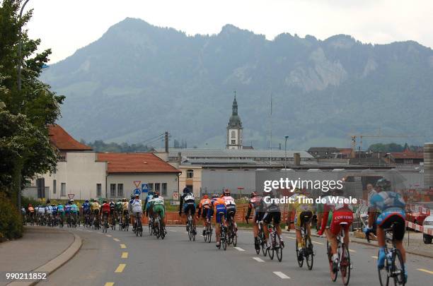
{"type": "Polygon", "coordinates": [[[266,35],[325,39],[336,34],[388,43],[415,40],[433,47],[432,0],[30,0],[30,37],[52,49],[51,63],[98,40],[126,17],[188,35],[215,34],[227,23],[266,35]]]}

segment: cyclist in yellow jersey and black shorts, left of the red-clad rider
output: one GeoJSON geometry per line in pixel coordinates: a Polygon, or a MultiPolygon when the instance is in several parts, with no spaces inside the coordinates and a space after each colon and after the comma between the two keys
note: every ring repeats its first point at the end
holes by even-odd
{"type": "MultiPolygon", "coordinates": [[[[310,221],[313,218],[313,204],[306,201],[306,196],[303,191],[299,188],[294,189],[294,194],[290,197],[291,203],[289,203],[289,215],[294,211],[294,227],[296,232],[296,243],[298,244],[298,260],[303,259],[303,245],[302,245],[302,235],[301,226],[306,225],[307,235],[310,237],[310,221]]],[[[287,218],[287,225],[289,225],[288,230],[290,230],[289,218],[287,218]]]]}

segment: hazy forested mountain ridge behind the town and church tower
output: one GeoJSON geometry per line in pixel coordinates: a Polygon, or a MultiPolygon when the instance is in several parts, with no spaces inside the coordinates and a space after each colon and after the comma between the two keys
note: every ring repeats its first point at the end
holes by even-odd
{"type": "Polygon", "coordinates": [[[287,135],[289,148],[344,147],[348,133],[378,129],[429,136],[408,143],[432,140],[432,79],[433,51],[413,41],[288,33],[270,41],[233,25],[187,36],[134,18],[42,75],[67,96],[59,124],[76,138],[139,143],[167,130],[219,148],[233,90],[246,145],[269,145],[270,121],[274,145],[287,135]]]}

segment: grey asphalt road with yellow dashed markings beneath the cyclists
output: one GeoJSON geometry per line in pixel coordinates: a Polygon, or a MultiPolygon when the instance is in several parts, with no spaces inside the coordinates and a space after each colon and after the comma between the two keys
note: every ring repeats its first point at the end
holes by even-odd
{"type": "MultiPolygon", "coordinates": [[[[146,230],[146,229],[145,229],[146,230]]],[[[201,232],[201,228],[199,232],[201,232]]],[[[331,282],[325,239],[314,237],[313,270],[299,268],[294,255],[294,232],[284,232],[283,260],[255,254],[252,232],[239,230],[238,248],[218,250],[198,235],[187,239],[185,227],[168,227],[166,239],[144,233],[108,230],[108,234],[80,227],[83,246],[74,258],[40,285],[342,285],[331,282]]],[[[351,244],[350,285],[379,285],[377,248],[351,244]]],[[[408,285],[431,285],[433,259],[408,254],[408,285]]]]}

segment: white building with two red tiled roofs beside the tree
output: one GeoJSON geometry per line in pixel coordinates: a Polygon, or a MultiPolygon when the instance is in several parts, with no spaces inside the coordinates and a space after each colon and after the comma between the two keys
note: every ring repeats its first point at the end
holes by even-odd
{"type": "Polygon", "coordinates": [[[117,199],[129,197],[142,184],[166,198],[178,191],[181,172],[153,153],[96,153],[59,125],[50,127],[50,141],[59,151],[56,171],[35,179],[25,196],[117,199]]]}

